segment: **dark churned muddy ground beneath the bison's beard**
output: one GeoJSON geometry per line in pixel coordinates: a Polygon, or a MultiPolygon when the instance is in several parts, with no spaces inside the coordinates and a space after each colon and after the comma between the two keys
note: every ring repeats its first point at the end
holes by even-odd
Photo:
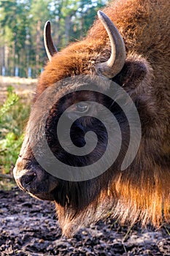
{"type": "Polygon", "coordinates": [[[161,230],[119,227],[107,219],[61,237],[53,203],[17,187],[0,191],[0,255],[170,255],[170,236],[161,230]]]}

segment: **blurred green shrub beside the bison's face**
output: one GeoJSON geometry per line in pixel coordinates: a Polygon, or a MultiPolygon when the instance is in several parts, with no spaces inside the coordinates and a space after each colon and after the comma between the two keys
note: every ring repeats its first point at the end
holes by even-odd
{"type": "Polygon", "coordinates": [[[23,142],[23,129],[29,114],[29,104],[9,86],[7,99],[0,106],[0,173],[12,173],[23,142]]]}

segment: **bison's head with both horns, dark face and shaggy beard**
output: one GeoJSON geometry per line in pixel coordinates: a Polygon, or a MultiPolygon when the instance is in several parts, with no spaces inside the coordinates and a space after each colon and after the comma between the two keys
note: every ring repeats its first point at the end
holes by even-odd
{"type": "Polygon", "coordinates": [[[152,68],[136,53],[126,57],[119,31],[103,12],[98,17],[109,40],[96,24],[88,37],[61,53],[46,23],[50,62],[14,169],[21,189],[55,201],[65,234],[108,210],[122,222],[158,224],[169,201],[169,161],[161,160],[167,146],[164,134],[152,127],[157,111],[152,68]],[[104,37],[93,34],[98,28],[104,37]]]}

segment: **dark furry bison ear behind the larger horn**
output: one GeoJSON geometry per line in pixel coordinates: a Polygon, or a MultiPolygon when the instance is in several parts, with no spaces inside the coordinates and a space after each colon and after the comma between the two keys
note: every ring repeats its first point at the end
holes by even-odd
{"type": "Polygon", "coordinates": [[[122,86],[125,91],[134,92],[136,89],[139,91],[143,81],[149,84],[151,79],[152,68],[150,64],[146,59],[135,55],[125,60],[123,69],[113,80],[122,86]]]}

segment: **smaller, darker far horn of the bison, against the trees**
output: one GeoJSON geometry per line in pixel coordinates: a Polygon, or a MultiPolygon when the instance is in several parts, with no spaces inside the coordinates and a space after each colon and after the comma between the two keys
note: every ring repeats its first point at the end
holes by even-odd
{"type": "Polygon", "coordinates": [[[53,39],[51,37],[51,24],[48,20],[45,23],[45,29],[44,29],[44,42],[45,42],[45,50],[47,53],[47,57],[49,61],[51,60],[51,57],[58,52],[57,48],[55,47],[53,43],[53,39]]]}

